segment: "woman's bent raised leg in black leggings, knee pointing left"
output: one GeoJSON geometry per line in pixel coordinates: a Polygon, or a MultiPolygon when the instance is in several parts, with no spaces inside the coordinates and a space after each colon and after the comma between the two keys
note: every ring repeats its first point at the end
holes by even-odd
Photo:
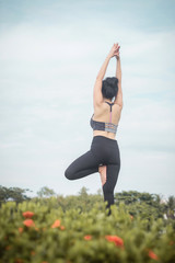
{"type": "Polygon", "coordinates": [[[77,180],[89,174],[98,172],[98,161],[91,150],[75,159],[65,171],[65,176],[69,180],[77,180]]]}

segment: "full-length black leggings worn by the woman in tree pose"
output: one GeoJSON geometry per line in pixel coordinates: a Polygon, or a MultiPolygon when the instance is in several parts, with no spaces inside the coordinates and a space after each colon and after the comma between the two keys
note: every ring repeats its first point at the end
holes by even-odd
{"type": "Polygon", "coordinates": [[[114,188],[117,183],[120,170],[120,152],[118,142],[104,136],[94,136],[91,149],[75,159],[65,171],[69,180],[77,180],[98,172],[100,165],[106,165],[106,182],[103,185],[104,201],[107,201],[106,208],[114,204],[114,188]]]}

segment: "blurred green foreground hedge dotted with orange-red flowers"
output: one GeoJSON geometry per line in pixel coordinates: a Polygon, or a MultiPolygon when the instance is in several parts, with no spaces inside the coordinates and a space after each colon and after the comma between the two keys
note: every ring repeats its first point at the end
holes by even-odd
{"type": "Polygon", "coordinates": [[[101,195],[96,195],[95,202],[93,195],[86,195],[83,204],[81,195],[84,195],[84,191],[74,198],[52,196],[2,204],[0,262],[175,262],[173,220],[165,224],[163,218],[154,217],[154,213],[148,214],[144,211],[149,206],[147,203],[137,207],[140,213],[132,210],[133,217],[130,216],[130,206],[128,209],[124,202],[113,205],[112,215],[107,216],[106,203],[101,195]],[[33,226],[24,225],[24,211],[34,213],[33,226]],[[106,236],[121,239],[124,245],[107,240],[106,236]]]}

